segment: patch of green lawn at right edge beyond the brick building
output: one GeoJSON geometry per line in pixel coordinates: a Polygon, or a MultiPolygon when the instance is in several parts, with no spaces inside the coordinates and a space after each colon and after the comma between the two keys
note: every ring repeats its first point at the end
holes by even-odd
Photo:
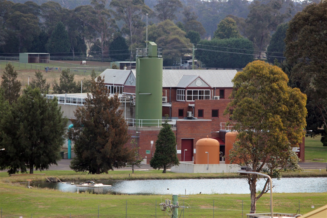
{"type": "Polygon", "coordinates": [[[321,136],[317,136],[315,138],[305,137],[305,161],[327,162],[327,147],[322,146],[320,139],[321,136]]]}

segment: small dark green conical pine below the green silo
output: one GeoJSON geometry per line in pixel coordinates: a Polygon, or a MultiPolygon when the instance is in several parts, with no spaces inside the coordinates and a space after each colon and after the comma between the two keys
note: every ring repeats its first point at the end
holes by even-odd
{"type": "Polygon", "coordinates": [[[153,158],[150,160],[150,166],[153,169],[163,168],[163,173],[166,173],[167,169],[176,165],[179,165],[176,150],[176,138],[168,124],[168,121],[165,120],[163,128],[158,134],[156,150],[153,158]]]}

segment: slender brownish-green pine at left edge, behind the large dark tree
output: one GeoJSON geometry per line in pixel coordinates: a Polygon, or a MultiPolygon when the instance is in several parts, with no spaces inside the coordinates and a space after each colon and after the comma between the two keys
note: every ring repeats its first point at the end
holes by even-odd
{"type": "Polygon", "coordinates": [[[1,88],[4,90],[4,97],[9,101],[11,105],[17,101],[19,97],[19,91],[21,89],[21,82],[17,79],[17,72],[14,71],[14,67],[11,64],[7,64],[5,67],[4,74],[1,76],[1,88]]]}

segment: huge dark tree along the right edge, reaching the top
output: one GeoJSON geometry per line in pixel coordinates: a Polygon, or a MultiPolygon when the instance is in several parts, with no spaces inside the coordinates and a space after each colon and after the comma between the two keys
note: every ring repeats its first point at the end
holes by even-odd
{"type": "Polygon", "coordinates": [[[327,146],[327,1],[297,13],[286,33],[285,57],[291,79],[308,96],[308,130],[322,134],[327,146]],[[321,130],[323,127],[324,130],[321,130]]]}

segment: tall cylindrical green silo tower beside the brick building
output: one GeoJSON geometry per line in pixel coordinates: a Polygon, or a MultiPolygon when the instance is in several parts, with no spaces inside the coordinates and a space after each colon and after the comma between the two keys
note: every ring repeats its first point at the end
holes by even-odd
{"type": "Polygon", "coordinates": [[[143,126],[158,126],[153,123],[162,119],[163,59],[158,55],[156,43],[148,42],[148,47],[148,54],[137,52],[136,119],[143,126]]]}

